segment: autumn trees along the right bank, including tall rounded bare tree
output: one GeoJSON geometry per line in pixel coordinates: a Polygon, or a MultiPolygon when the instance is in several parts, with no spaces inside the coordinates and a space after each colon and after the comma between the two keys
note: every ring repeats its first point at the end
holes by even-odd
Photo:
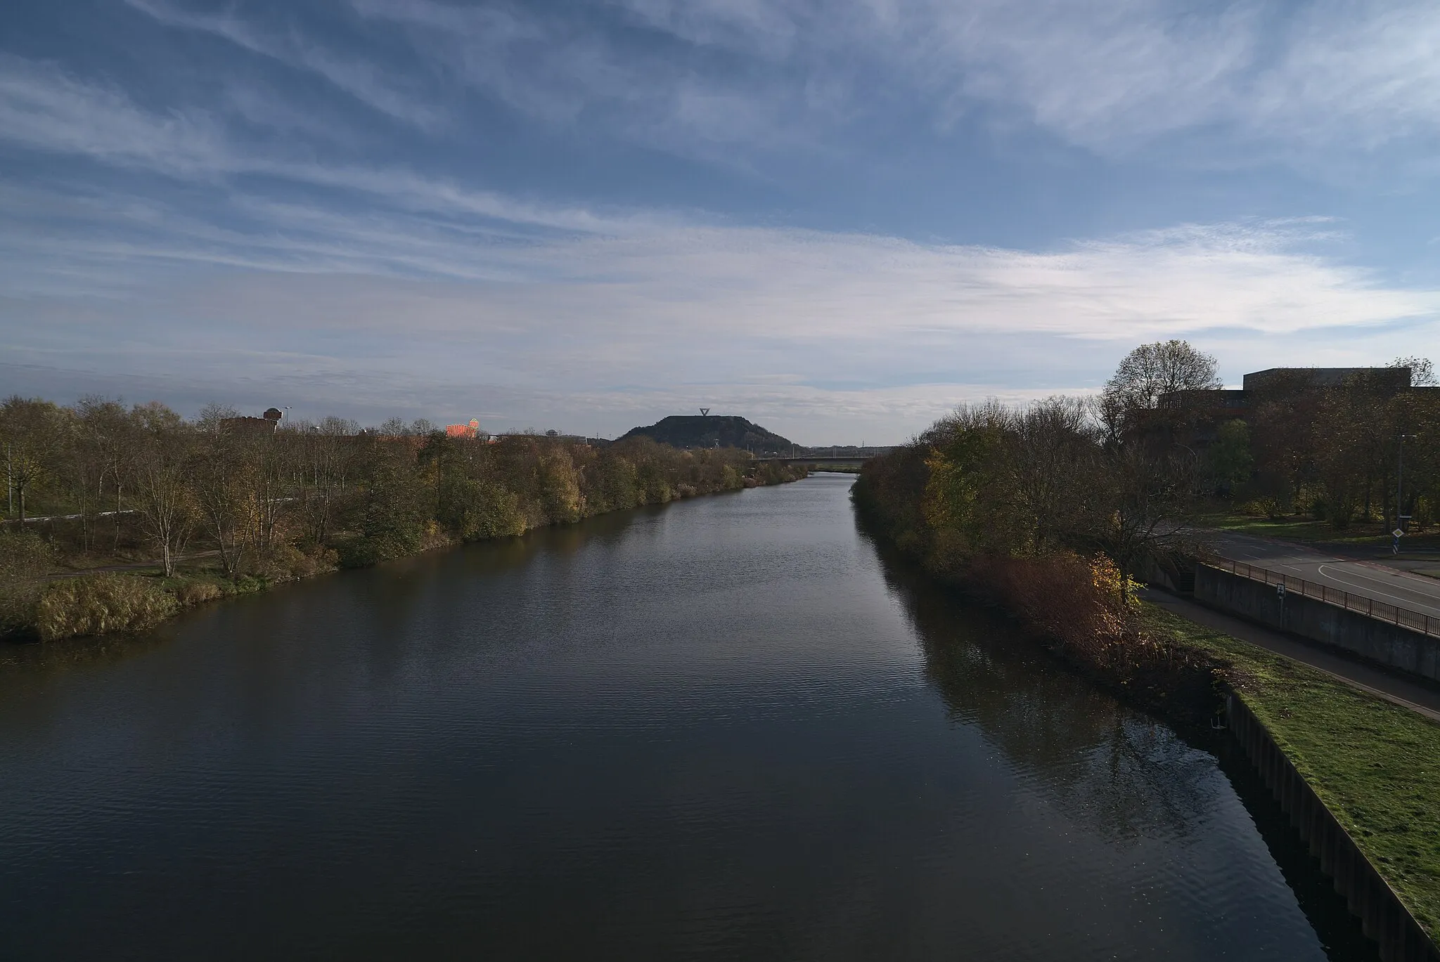
{"type": "MultiPolygon", "coordinates": [[[[1423,359],[1392,367],[1431,380],[1423,359]]],[[[962,406],[868,461],[855,501],[933,573],[1112,654],[1143,647],[1129,579],[1202,552],[1205,513],[1305,513],[1377,534],[1397,513],[1434,521],[1440,390],[1397,389],[1384,369],[1332,385],[1296,370],[1236,399],[1215,370],[1165,341],[1130,351],[1099,396],[962,406]]]]}

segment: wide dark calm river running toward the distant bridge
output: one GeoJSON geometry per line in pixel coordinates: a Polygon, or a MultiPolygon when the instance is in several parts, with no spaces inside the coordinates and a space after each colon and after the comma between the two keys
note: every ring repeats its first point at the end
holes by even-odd
{"type": "Polygon", "coordinates": [[[0,958],[1374,958],[1240,766],[884,556],[848,487],[20,651],[0,958]]]}

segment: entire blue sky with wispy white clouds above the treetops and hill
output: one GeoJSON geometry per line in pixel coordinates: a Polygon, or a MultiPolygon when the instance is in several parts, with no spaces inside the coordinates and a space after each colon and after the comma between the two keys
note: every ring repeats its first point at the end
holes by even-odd
{"type": "Polygon", "coordinates": [[[1440,4],[12,0],[0,392],[893,442],[1434,354],[1440,4]]]}

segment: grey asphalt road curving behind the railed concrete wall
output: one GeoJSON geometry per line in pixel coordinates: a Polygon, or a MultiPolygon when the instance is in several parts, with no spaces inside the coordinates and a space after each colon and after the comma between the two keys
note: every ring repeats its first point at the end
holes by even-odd
{"type": "Polygon", "coordinates": [[[1339,557],[1293,541],[1233,531],[1207,530],[1200,534],[1210,540],[1221,557],[1440,618],[1440,579],[1411,575],[1377,562],[1339,557]]]}

